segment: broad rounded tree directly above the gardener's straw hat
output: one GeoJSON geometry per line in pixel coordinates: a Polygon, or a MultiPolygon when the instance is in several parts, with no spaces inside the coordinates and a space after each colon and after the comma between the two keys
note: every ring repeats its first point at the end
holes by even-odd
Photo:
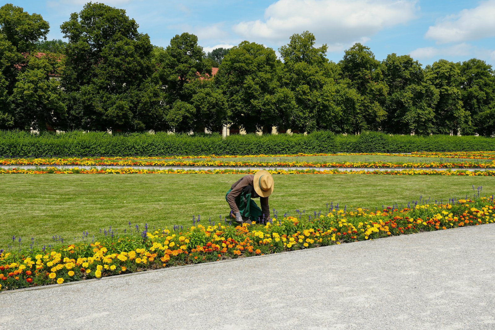
{"type": "Polygon", "coordinates": [[[244,41],[230,49],[214,79],[227,98],[230,122],[247,133],[285,123],[294,97],[280,86],[280,68],[272,48],[244,41]]]}

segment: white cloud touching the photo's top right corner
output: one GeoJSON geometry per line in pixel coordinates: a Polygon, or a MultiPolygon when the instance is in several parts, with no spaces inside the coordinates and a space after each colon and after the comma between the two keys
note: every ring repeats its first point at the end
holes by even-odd
{"type": "Polygon", "coordinates": [[[430,26],[425,38],[437,44],[459,43],[495,36],[495,0],[480,2],[472,9],[463,9],[430,26]]]}

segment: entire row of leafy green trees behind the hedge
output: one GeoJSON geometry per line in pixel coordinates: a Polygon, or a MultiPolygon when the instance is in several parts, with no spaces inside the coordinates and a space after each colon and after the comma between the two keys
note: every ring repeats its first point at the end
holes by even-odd
{"type": "Polygon", "coordinates": [[[187,32],[159,47],[98,2],[68,17],[63,40],[49,28],[0,7],[0,129],[495,135],[495,72],[477,58],[423,66],[356,43],[334,63],[309,31],[288,36],[280,58],[249,41],[205,53],[187,32]]]}

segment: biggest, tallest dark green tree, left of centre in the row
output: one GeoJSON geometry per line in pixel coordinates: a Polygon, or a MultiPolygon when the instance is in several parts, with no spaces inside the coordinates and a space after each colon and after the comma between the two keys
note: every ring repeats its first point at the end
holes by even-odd
{"type": "Polygon", "coordinates": [[[125,10],[87,3],[60,28],[67,59],[62,86],[69,128],[122,131],[164,127],[162,91],[147,34],[125,10]]]}

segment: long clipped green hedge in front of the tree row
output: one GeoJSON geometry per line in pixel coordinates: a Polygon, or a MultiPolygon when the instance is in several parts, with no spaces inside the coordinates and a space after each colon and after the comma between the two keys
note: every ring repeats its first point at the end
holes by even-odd
{"type": "Polygon", "coordinates": [[[495,139],[457,136],[361,135],[178,135],[103,132],[29,134],[0,131],[0,157],[154,156],[224,154],[296,154],[331,152],[494,151],[495,139]]]}

